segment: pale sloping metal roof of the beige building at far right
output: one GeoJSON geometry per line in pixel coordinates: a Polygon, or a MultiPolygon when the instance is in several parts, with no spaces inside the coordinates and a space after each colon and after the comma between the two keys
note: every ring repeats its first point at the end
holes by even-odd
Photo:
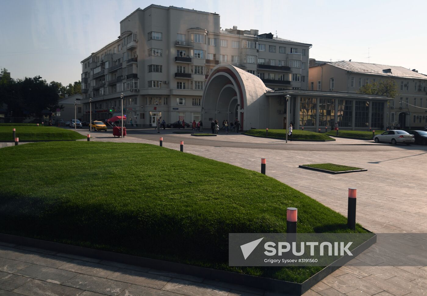
{"type": "Polygon", "coordinates": [[[381,75],[381,76],[389,76],[389,77],[427,79],[427,76],[424,74],[421,74],[400,66],[370,64],[370,63],[362,63],[362,62],[349,62],[349,61],[327,62],[326,64],[344,69],[346,71],[354,72],[354,73],[381,75]]]}

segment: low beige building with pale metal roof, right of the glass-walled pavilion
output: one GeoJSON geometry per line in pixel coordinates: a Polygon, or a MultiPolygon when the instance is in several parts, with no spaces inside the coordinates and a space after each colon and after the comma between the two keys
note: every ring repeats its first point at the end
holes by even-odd
{"type": "MultiPolygon", "coordinates": [[[[310,61],[310,65],[313,65],[310,66],[309,74],[310,90],[358,92],[367,83],[388,78],[395,80],[399,94],[385,106],[385,124],[370,118],[369,123],[366,120],[365,127],[371,127],[372,122],[378,125],[372,128],[385,128],[387,124],[389,127],[400,124],[401,128],[421,128],[427,124],[427,76],[415,69],[351,61],[325,62],[320,65],[310,61]]],[[[357,112],[378,109],[375,105],[377,103],[360,101],[356,104],[347,108],[356,108],[357,112]]]]}

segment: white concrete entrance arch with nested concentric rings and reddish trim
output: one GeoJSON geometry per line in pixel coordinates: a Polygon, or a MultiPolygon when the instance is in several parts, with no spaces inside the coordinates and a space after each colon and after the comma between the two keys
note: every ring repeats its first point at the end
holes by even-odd
{"type": "Polygon", "coordinates": [[[271,89],[257,76],[230,64],[217,65],[212,69],[203,92],[203,122],[210,126],[209,119],[222,122],[229,118],[230,112],[235,112],[230,110],[232,101],[237,99],[233,104],[237,105],[237,118],[242,129],[264,128],[267,124],[265,93],[268,91],[271,89]]]}

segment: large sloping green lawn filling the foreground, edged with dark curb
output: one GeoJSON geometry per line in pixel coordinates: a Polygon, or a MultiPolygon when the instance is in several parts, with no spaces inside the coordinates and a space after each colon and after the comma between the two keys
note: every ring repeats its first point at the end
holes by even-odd
{"type": "Polygon", "coordinates": [[[321,267],[229,267],[228,233],[286,232],[287,207],[298,208],[298,232],[352,232],[274,178],[164,147],[39,142],[1,153],[3,233],[302,282],[321,267]]]}

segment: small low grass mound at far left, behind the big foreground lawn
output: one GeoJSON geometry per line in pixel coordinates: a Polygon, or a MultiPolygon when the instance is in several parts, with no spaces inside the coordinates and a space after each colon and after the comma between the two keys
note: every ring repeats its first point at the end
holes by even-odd
{"type": "Polygon", "coordinates": [[[16,128],[16,136],[20,141],[37,141],[37,140],[77,140],[86,137],[76,133],[74,130],[66,130],[59,127],[43,126],[23,126],[0,124],[0,141],[13,141],[13,128],[16,128]]]}

